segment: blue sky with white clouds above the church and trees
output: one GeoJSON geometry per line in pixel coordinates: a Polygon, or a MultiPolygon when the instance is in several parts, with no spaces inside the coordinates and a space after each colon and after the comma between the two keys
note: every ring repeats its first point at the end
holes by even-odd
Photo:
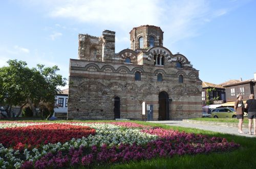
{"type": "Polygon", "coordinates": [[[256,1],[0,1],[0,67],[10,59],[57,65],[69,76],[78,34],[116,32],[116,53],[130,48],[133,27],[164,31],[163,46],[180,52],[201,80],[222,83],[256,72],[256,1]]]}

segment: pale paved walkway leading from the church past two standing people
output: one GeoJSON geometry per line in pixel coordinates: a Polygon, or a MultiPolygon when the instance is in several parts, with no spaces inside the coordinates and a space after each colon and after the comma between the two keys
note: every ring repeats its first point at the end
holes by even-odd
{"type": "MultiPolygon", "coordinates": [[[[220,126],[220,125],[212,125],[212,124],[200,124],[200,123],[190,123],[186,121],[148,121],[152,123],[161,123],[166,124],[169,126],[180,126],[180,127],[187,127],[187,128],[197,128],[201,130],[209,130],[209,131],[215,131],[215,132],[221,132],[221,133],[227,133],[227,134],[235,134],[240,136],[246,136],[246,137],[256,137],[255,135],[249,135],[249,129],[246,126],[243,126],[243,131],[245,134],[240,134],[238,132],[238,127],[231,127],[231,126],[220,126]]],[[[251,130],[253,134],[253,129],[251,130]]]]}

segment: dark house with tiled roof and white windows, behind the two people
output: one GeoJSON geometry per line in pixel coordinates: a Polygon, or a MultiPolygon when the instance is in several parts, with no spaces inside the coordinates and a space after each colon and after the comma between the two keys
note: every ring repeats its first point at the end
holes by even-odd
{"type": "Polygon", "coordinates": [[[220,85],[225,88],[227,102],[235,101],[237,94],[241,93],[244,100],[249,99],[250,94],[254,94],[256,83],[256,73],[253,79],[229,80],[220,85]]]}

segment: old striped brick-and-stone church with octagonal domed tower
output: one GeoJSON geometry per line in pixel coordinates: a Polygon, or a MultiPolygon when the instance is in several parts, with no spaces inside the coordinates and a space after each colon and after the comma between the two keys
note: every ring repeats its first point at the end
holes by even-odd
{"type": "Polygon", "coordinates": [[[161,28],[134,27],[130,40],[131,49],[115,53],[115,32],[79,34],[78,59],[70,59],[68,119],[201,117],[199,71],[163,46],[161,28]]]}

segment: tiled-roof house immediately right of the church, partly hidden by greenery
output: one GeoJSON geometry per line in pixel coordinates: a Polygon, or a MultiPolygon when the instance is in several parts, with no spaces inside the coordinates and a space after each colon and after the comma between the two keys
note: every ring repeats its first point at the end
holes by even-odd
{"type": "Polygon", "coordinates": [[[212,101],[211,104],[222,104],[226,101],[225,98],[225,88],[221,85],[216,85],[214,83],[209,82],[202,82],[202,105],[206,105],[206,90],[207,89],[213,89],[215,88],[215,91],[209,92],[209,99],[212,101]],[[216,98],[217,100],[213,100],[216,98]]]}

